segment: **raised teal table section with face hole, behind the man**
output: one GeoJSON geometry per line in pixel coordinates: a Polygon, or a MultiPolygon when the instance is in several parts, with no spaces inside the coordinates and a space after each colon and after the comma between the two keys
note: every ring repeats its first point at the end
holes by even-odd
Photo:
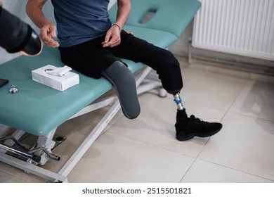
{"type": "MultiPolygon", "coordinates": [[[[134,0],[126,25],[161,30],[179,37],[200,6],[198,0],[134,0]],[[141,23],[149,12],[155,14],[147,23],[141,23]]],[[[115,22],[116,14],[117,5],[110,10],[112,22],[115,22]]]]}

